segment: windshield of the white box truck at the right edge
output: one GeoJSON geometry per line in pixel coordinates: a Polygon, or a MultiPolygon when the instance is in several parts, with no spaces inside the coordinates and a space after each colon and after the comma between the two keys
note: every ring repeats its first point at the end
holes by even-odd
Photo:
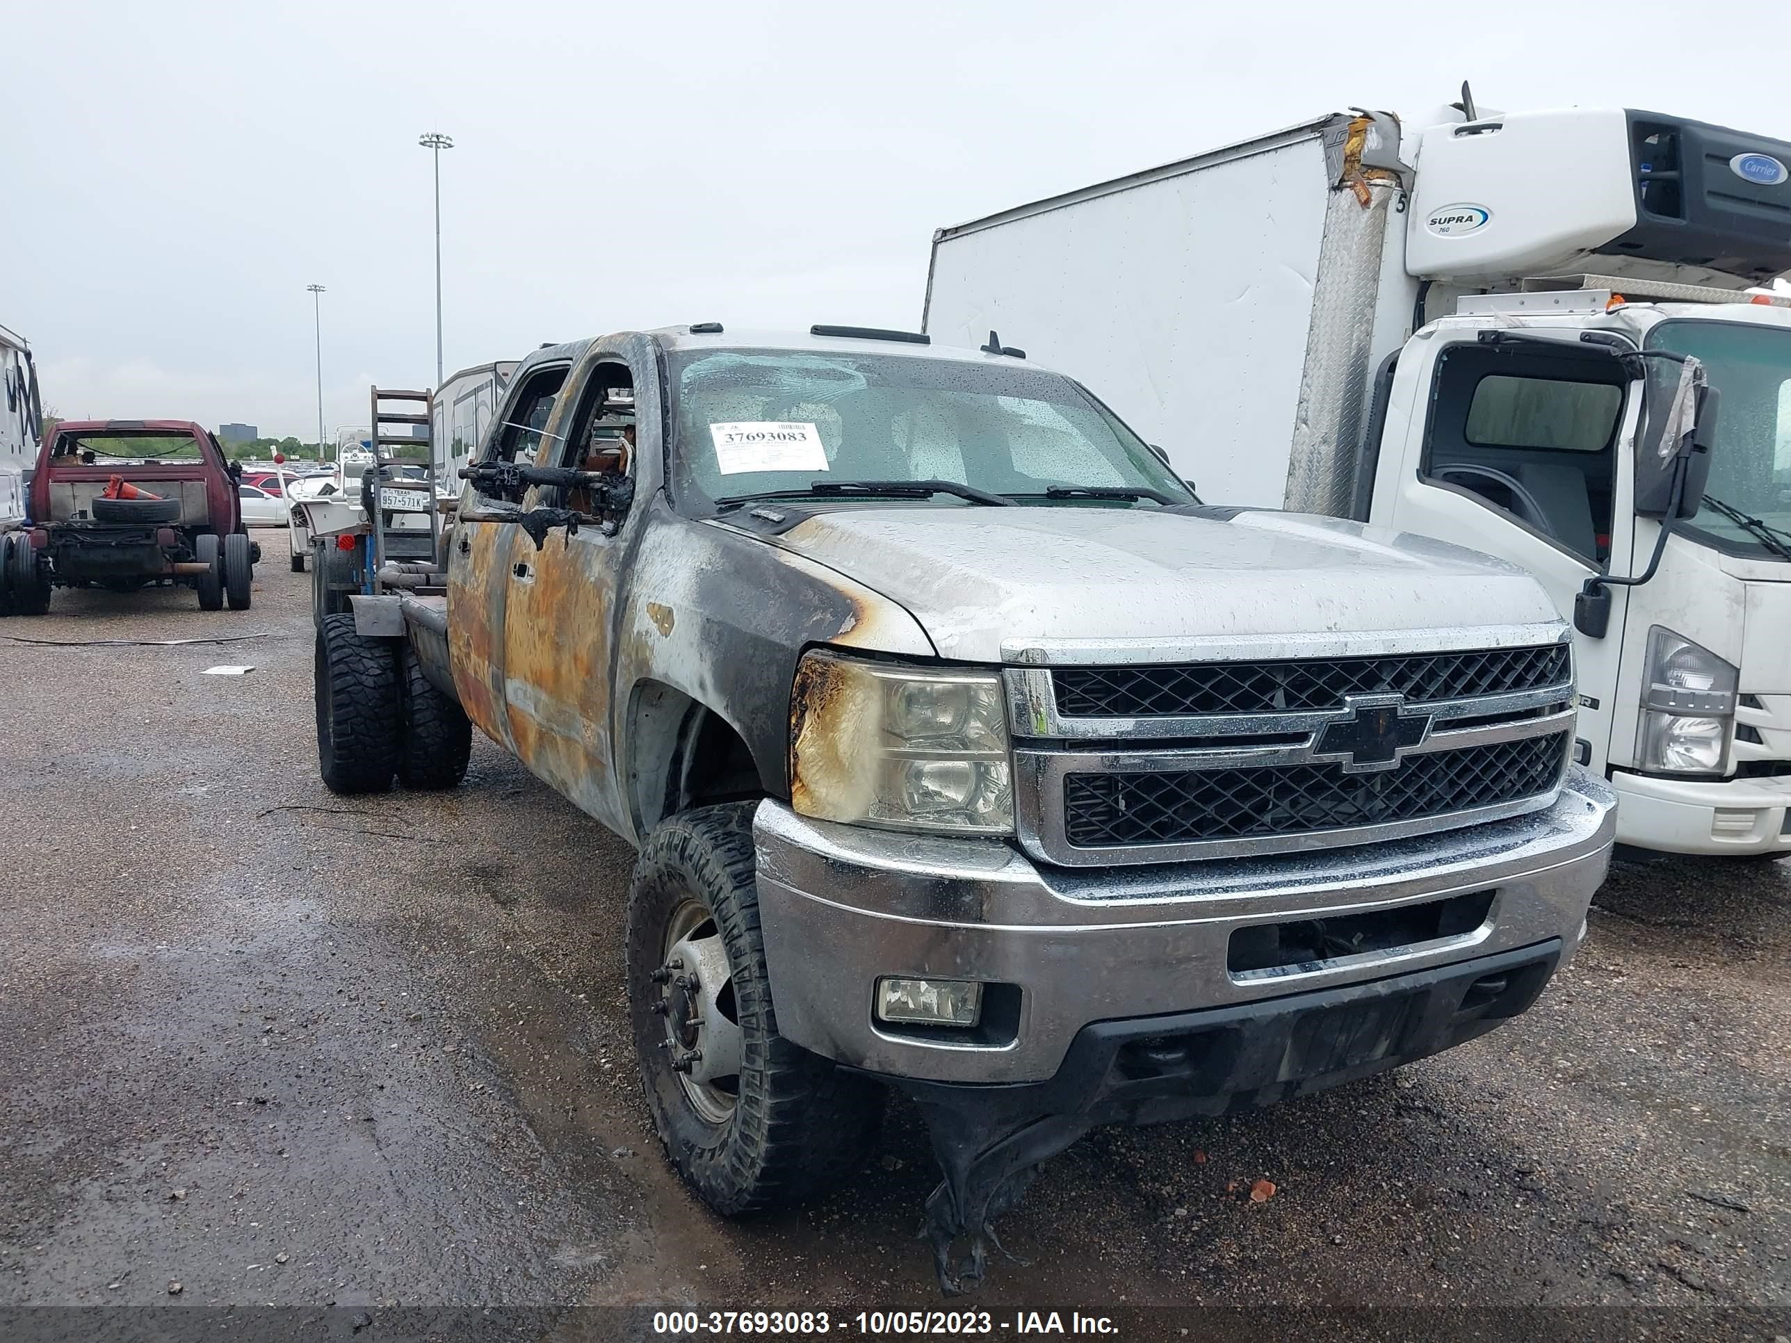
{"type": "Polygon", "coordinates": [[[1650,346],[1703,360],[1710,385],[1723,394],[1709,503],[1684,528],[1723,550],[1780,559],[1784,548],[1743,519],[1791,532],[1791,329],[1673,321],[1655,328],[1650,346]]]}

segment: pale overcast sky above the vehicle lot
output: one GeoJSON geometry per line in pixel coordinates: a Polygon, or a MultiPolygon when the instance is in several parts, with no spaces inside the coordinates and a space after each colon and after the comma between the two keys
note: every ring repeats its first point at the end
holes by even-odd
{"type": "Polygon", "coordinates": [[[63,415],[315,437],[446,362],[718,319],[919,326],[931,231],[1350,104],[1791,140],[1787,0],[5,0],[0,324],[63,415]],[[1633,66],[1633,72],[1632,72],[1633,66]]]}

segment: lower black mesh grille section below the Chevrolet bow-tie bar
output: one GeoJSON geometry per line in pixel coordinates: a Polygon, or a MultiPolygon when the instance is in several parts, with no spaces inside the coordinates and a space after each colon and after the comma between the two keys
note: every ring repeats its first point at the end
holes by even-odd
{"type": "Polygon", "coordinates": [[[1560,781],[1571,732],[1413,756],[1397,770],[1284,765],[1071,774],[1064,831],[1078,849],[1298,836],[1538,797],[1560,781]]]}

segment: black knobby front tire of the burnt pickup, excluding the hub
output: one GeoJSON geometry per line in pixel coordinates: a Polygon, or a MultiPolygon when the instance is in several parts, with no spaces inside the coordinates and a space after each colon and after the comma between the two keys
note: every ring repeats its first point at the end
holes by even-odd
{"type": "Polygon", "coordinates": [[[838,1184],[869,1153],[883,1089],[836,1069],[777,1033],[752,876],[754,802],[672,817],[634,863],[627,915],[629,1015],[647,1108],[666,1155],[724,1216],[801,1202],[838,1184]],[[707,904],[727,949],[740,1021],[740,1089],[725,1123],[704,1119],[672,1069],[652,974],[673,910],[707,904]]]}

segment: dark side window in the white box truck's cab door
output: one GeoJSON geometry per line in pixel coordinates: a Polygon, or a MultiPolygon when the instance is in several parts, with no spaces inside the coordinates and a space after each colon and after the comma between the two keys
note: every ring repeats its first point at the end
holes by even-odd
{"type": "Polygon", "coordinates": [[[1453,346],[1436,367],[1422,475],[1599,564],[1623,398],[1623,371],[1601,355],[1453,346]]]}

